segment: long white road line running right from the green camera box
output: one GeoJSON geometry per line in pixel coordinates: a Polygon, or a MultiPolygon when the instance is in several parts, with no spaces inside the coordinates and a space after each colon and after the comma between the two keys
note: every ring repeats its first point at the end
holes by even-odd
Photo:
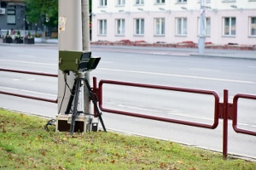
{"type": "Polygon", "coordinates": [[[148,71],[125,71],[125,70],[108,69],[108,68],[99,68],[98,70],[102,70],[102,71],[119,71],[119,72],[147,74],[147,75],[165,76],[165,77],[183,77],[183,78],[193,78],[193,79],[220,81],[220,82],[239,82],[239,83],[246,83],[246,84],[256,84],[256,82],[242,81],[242,80],[223,79],[223,78],[214,78],[214,77],[195,77],[195,76],[167,74],[167,73],[158,73],[158,72],[148,72],[148,71]]]}

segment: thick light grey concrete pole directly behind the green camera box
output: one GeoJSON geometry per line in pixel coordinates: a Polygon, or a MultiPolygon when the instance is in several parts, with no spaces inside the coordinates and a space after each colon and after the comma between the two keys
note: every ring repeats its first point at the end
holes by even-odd
{"type": "MultiPolygon", "coordinates": [[[[82,51],[82,17],[80,0],[59,0],[59,50],[82,51]]],[[[73,87],[75,76],[72,72],[67,76],[69,87],[73,87]]],[[[65,98],[61,100],[65,89],[64,75],[58,71],[58,111],[65,114],[70,90],[66,88],[65,98]]]]}

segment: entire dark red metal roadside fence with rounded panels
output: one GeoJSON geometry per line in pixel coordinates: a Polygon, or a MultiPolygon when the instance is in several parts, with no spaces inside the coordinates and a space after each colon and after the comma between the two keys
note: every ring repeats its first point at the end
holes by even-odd
{"type": "MultiPolygon", "coordinates": [[[[3,69],[0,68],[0,71],[9,71],[9,72],[16,72],[16,73],[22,73],[22,74],[32,74],[32,75],[38,75],[38,76],[45,76],[45,77],[58,77],[58,75],[55,74],[49,74],[49,73],[40,73],[40,72],[32,72],[32,71],[15,71],[15,70],[9,70],[9,69],[3,69]]],[[[241,129],[237,127],[237,105],[238,105],[238,99],[255,99],[256,95],[251,94],[236,94],[233,98],[233,104],[229,103],[228,98],[228,90],[224,89],[224,102],[219,102],[218,94],[214,91],[209,90],[201,90],[201,89],[192,89],[192,88],[176,88],[176,87],[168,87],[168,86],[159,86],[159,85],[149,85],[149,84],[141,84],[141,83],[133,83],[133,82],[118,82],[118,81],[112,81],[112,80],[101,80],[99,82],[99,87],[97,88],[97,82],[96,77],[93,77],[93,92],[96,93],[99,99],[99,107],[101,111],[106,111],[114,114],[119,115],[125,115],[125,116],[136,116],[146,119],[153,119],[156,121],[161,122],[172,122],[172,123],[178,123],[193,127],[203,127],[203,128],[209,128],[214,129],[218,127],[218,120],[223,119],[223,156],[224,159],[228,155],[228,120],[232,120],[233,129],[236,131],[236,133],[244,133],[248,135],[256,136],[256,132],[249,131],[246,129],[241,129]],[[204,123],[198,123],[198,122],[187,122],[177,119],[170,119],[166,117],[159,117],[159,116],[150,116],[150,115],[144,115],[139,113],[132,113],[132,112],[125,112],[125,111],[118,111],[113,109],[108,109],[103,107],[103,85],[104,84],[113,84],[113,85],[119,85],[119,86],[130,86],[130,87],[137,87],[137,88],[154,88],[154,89],[160,89],[160,90],[169,90],[169,91],[178,91],[178,92],[185,92],[185,93],[192,93],[192,94],[207,94],[212,95],[214,97],[214,118],[212,124],[204,124],[204,123]]],[[[14,94],[9,92],[3,92],[0,91],[0,94],[8,94],[13,95],[21,98],[27,98],[27,99],[37,99],[42,101],[47,101],[51,103],[57,103],[57,99],[44,99],[44,98],[38,98],[35,96],[28,96],[28,95],[22,95],[22,94],[14,94]]]]}

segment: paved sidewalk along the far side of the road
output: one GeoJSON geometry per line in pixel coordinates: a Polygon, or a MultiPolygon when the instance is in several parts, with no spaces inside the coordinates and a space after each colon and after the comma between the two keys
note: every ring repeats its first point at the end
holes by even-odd
{"type": "MultiPolygon", "coordinates": [[[[3,38],[0,38],[0,45],[17,45],[13,43],[3,43],[3,38]]],[[[18,44],[20,45],[20,44],[18,44]]],[[[23,44],[21,44],[23,45],[23,44]]],[[[32,44],[30,44],[32,45],[32,44]]],[[[58,42],[35,42],[34,45],[58,45],[58,42]]],[[[205,48],[204,54],[198,53],[198,48],[172,48],[172,47],[152,47],[152,46],[129,46],[117,44],[95,44],[91,43],[91,48],[112,48],[112,49],[126,49],[128,52],[131,49],[150,49],[155,50],[155,54],[166,54],[172,56],[195,56],[195,57],[212,57],[212,58],[234,58],[234,59],[256,59],[256,50],[237,50],[237,49],[219,49],[219,48],[205,48]]],[[[147,51],[147,50],[145,50],[147,51]]]]}

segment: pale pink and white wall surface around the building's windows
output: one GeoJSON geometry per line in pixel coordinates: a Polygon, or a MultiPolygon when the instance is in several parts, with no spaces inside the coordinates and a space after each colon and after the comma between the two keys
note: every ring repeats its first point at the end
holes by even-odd
{"type": "MultiPolygon", "coordinates": [[[[107,7],[99,7],[98,1],[92,3],[92,42],[99,40],[115,42],[124,39],[145,42],[168,42],[177,43],[183,41],[198,42],[198,18],[200,15],[200,3],[198,0],[188,0],[188,3],[176,3],[175,0],[166,0],[166,4],[156,5],[154,0],[144,0],[144,5],[134,5],[134,1],[126,0],[125,6],[115,5],[115,0],[108,0],[107,7]],[[181,7],[188,8],[183,10],[181,7]],[[143,8],[143,11],[137,8],[143,8]],[[159,8],[165,8],[166,11],[159,8]],[[190,11],[190,10],[193,11],[190,11]],[[107,13],[102,12],[102,10],[107,13]],[[123,10],[124,12],[119,12],[123,10]],[[171,10],[171,13],[168,12],[171,10]],[[163,37],[154,36],[154,18],[164,17],[166,19],[166,34],[163,37]],[[188,20],[188,34],[186,37],[175,35],[176,18],[186,17],[188,20]],[[145,20],[144,36],[134,35],[134,19],[143,18],[145,20]],[[125,36],[115,35],[115,20],[125,19],[125,36]],[[98,20],[107,20],[107,35],[98,35],[98,20]]],[[[256,17],[256,1],[236,0],[225,3],[224,0],[212,0],[207,3],[211,9],[207,10],[206,17],[211,18],[211,36],[206,38],[206,42],[215,44],[226,44],[236,42],[238,44],[256,44],[256,37],[249,35],[249,17],[256,17]],[[237,8],[231,8],[230,5],[236,5],[237,8]],[[238,10],[242,8],[242,10],[238,10]],[[217,12],[214,10],[217,9],[217,12]],[[223,36],[223,18],[236,17],[236,36],[223,36]]]]}

